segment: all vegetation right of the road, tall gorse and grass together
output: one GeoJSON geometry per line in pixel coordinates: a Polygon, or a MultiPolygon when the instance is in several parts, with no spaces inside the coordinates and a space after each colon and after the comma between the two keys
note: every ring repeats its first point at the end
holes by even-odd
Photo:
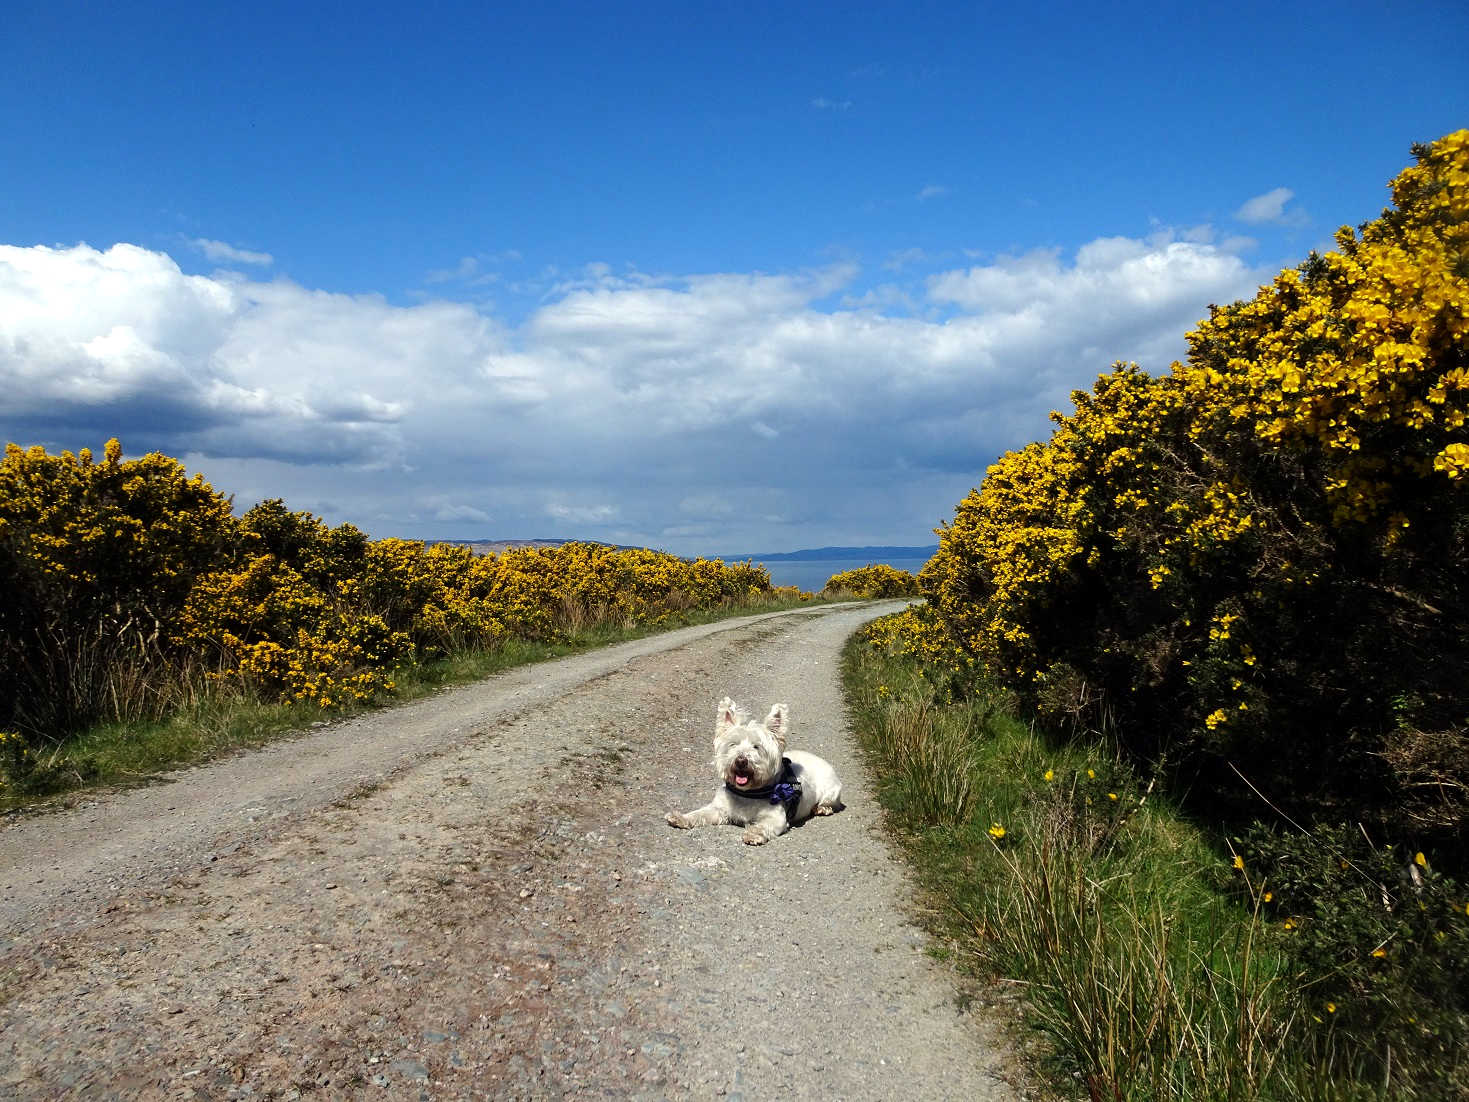
{"type": "Polygon", "coordinates": [[[851,654],[952,930],[1093,1099],[1469,1098],[1469,131],[1413,153],[990,467],[851,654]]]}

